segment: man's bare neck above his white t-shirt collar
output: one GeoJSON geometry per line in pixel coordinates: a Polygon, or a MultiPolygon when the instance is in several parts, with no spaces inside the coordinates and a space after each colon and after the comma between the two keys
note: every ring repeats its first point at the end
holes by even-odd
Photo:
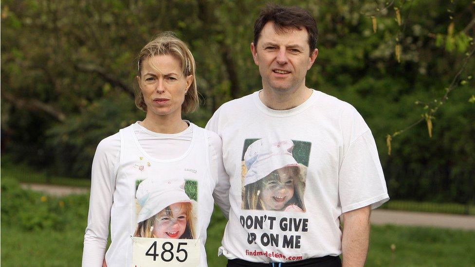
{"type": "Polygon", "coordinates": [[[298,107],[309,99],[311,94],[312,90],[305,86],[287,92],[278,92],[273,89],[264,88],[259,92],[259,99],[266,107],[274,110],[287,110],[298,107]]]}

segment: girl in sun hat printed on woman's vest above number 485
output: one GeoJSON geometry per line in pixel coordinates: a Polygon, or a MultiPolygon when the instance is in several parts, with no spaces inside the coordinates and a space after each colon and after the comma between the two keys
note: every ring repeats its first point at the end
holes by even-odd
{"type": "Polygon", "coordinates": [[[148,178],[136,197],[141,207],[135,237],[195,239],[193,200],[184,191],[185,181],[148,178]]]}

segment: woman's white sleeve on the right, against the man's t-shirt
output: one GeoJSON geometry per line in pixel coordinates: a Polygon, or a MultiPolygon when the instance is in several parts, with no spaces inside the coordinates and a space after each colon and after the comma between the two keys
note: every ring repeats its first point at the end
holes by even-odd
{"type": "Polygon", "coordinates": [[[221,212],[228,218],[231,209],[229,203],[229,188],[231,185],[222,160],[221,138],[216,133],[209,134],[209,146],[211,176],[216,181],[213,197],[221,212]]]}

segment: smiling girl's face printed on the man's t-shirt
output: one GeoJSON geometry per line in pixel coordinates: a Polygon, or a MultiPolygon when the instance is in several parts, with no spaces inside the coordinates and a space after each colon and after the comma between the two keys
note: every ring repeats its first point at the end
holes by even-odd
{"type": "Polygon", "coordinates": [[[283,167],[263,178],[260,196],[267,210],[285,208],[293,196],[294,173],[292,167],[283,167]]]}

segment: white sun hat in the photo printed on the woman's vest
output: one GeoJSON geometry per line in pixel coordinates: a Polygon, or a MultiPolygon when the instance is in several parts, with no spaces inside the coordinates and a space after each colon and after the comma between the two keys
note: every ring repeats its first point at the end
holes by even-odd
{"type": "Polygon", "coordinates": [[[142,181],[135,194],[142,207],[137,223],[151,218],[173,203],[191,202],[184,186],[184,179],[147,178],[142,181]]]}

